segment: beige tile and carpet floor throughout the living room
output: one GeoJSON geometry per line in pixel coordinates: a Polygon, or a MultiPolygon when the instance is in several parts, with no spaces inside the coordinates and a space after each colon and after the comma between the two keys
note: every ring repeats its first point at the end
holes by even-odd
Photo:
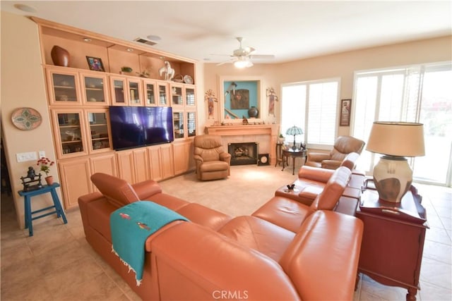
{"type": "MultiPolygon", "coordinates": [[[[198,182],[188,173],[161,185],[169,194],[237,216],[250,214],[294,178],[291,168],[281,172],[274,166],[232,166],[228,180],[198,182]],[[232,206],[232,199],[242,205],[232,206]]],[[[450,301],[452,190],[416,186],[430,226],[417,300],[450,301]]],[[[11,197],[1,195],[1,300],[140,300],[85,241],[78,209],[66,216],[66,225],[55,218],[35,221],[35,235],[28,237],[28,231],[18,228],[11,197]]],[[[405,294],[403,288],[361,276],[355,300],[405,300],[405,294]]]]}

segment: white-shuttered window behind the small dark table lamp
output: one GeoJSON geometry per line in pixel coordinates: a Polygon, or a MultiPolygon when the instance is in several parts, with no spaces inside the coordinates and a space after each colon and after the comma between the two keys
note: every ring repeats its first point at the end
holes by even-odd
{"type": "Polygon", "coordinates": [[[308,147],[328,148],[334,144],[339,101],[339,79],[285,84],[281,88],[281,133],[297,125],[308,147]]]}

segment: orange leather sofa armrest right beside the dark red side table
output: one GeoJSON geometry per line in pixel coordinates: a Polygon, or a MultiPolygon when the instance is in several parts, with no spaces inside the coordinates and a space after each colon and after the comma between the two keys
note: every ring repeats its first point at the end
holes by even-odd
{"type": "Polygon", "coordinates": [[[355,216],[316,211],[280,260],[302,300],[353,300],[363,223],[355,216]]]}

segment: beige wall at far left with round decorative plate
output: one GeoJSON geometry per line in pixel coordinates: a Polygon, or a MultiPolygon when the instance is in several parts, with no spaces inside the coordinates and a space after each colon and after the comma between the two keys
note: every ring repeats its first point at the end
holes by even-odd
{"type": "MultiPolygon", "coordinates": [[[[13,198],[20,226],[24,226],[23,198],[17,194],[23,189],[20,177],[27,176],[28,166],[36,168],[36,161],[17,162],[16,154],[44,151],[54,160],[54,145],[50,128],[49,110],[41,66],[40,41],[37,25],[32,20],[1,11],[1,131],[8,161],[13,198]],[[30,107],[42,116],[35,130],[19,130],[11,123],[11,113],[20,107],[30,107]]],[[[51,169],[58,181],[56,166],[51,169]]],[[[3,176],[3,175],[2,175],[3,176]]],[[[44,173],[43,173],[44,176],[44,173]]],[[[44,182],[44,179],[42,179],[44,182]]],[[[32,197],[35,208],[52,204],[50,194],[32,197]]]]}

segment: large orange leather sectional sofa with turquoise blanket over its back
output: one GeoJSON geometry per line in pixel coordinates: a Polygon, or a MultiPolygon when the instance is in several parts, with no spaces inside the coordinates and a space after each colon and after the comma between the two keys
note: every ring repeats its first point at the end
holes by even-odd
{"type": "Polygon", "coordinates": [[[286,208],[299,204],[293,200],[273,199],[251,216],[232,218],[167,195],[153,180],[129,185],[103,173],[92,176],[100,192],[78,203],[86,240],[143,300],[352,300],[362,221],[330,210],[350,176],[337,173],[315,205],[292,216],[286,208]],[[109,228],[112,211],[137,200],[189,219],[146,240],[140,286],[112,253],[109,228]]]}

